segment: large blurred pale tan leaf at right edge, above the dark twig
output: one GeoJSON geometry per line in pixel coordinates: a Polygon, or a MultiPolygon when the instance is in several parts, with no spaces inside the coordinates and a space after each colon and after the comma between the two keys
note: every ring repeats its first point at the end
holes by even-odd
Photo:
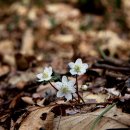
{"type": "Polygon", "coordinates": [[[130,49],[130,44],[129,40],[124,40],[121,37],[119,37],[118,34],[110,31],[110,30],[105,30],[105,31],[89,31],[88,35],[92,37],[93,39],[101,40],[102,45],[100,45],[102,50],[109,50],[110,55],[113,56],[114,54],[118,54],[119,56],[122,56],[123,58],[126,55],[128,55],[128,49],[130,49]]]}

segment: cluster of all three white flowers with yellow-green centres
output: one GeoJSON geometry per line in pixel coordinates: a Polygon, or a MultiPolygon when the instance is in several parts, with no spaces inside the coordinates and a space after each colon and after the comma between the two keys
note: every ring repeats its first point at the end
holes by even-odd
{"type": "MultiPolygon", "coordinates": [[[[77,59],[75,63],[70,62],[68,66],[72,75],[82,75],[88,69],[88,64],[83,63],[81,59],[77,59]]],[[[43,72],[37,74],[36,77],[39,82],[50,81],[52,79],[52,73],[52,67],[45,67],[43,72]]],[[[65,97],[69,101],[72,100],[73,94],[76,93],[76,87],[78,86],[75,86],[75,81],[68,80],[66,76],[63,76],[62,81],[56,82],[52,87],[57,90],[57,97],[65,97]]],[[[78,92],[77,95],[79,95],[78,92]]]]}

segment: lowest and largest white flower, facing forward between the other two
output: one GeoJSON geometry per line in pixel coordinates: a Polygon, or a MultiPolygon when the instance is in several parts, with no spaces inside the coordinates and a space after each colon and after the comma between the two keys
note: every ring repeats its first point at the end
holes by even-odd
{"type": "Polygon", "coordinates": [[[74,87],[75,81],[69,81],[66,76],[62,77],[62,82],[56,82],[57,97],[65,97],[67,101],[72,99],[72,94],[76,92],[74,87]]]}

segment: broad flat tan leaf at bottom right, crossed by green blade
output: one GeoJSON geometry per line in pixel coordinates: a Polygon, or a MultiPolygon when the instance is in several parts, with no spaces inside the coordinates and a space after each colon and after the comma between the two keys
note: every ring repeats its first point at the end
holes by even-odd
{"type": "MultiPolygon", "coordinates": [[[[104,111],[104,109],[87,114],[61,117],[61,119],[56,118],[54,120],[54,130],[57,130],[59,123],[59,130],[90,130],[93,121],[102,111],[104,111]]],[[[102,117],[95,130],[128,128],[130,125],[129,120],[129,114],[122,113],[121,110],[114,107],[102,117]]]]}

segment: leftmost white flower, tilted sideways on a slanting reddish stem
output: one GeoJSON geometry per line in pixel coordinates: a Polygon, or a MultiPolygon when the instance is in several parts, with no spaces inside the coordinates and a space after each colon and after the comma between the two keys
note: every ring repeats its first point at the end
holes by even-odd
{"type": "Polygon", "coordinates": [[[49,81],[52,75],[52,67],[45,67],[42,73],[36,75],[39,82],[49,81]]]}

